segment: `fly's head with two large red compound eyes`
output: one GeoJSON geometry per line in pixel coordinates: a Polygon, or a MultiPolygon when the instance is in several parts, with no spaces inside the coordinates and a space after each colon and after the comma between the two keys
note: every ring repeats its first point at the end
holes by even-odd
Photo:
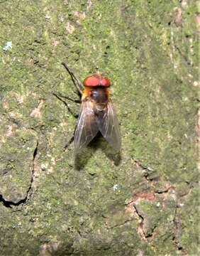
{"type": "Polygon", "coordinates": [[[83,84],[85,87],[109,87],[111,85],[111,82],[109,78],[103,77],[101,73],[96,73],[93,75],[89,75],[87,78],[85,78],[83,84]]]}

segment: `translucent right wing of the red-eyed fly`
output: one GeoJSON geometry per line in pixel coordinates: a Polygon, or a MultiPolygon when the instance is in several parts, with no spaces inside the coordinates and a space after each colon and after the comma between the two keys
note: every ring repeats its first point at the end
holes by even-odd
{"type": "Polygon", "coordinates": [[[101,134],[107,142],[113,146],[116,151],[121,149],[121,135],[118,125],[118,119],[113,107],[113,103],[109,100],[106,110],[103,110],[97,117],[98,127],[101,134]]]}

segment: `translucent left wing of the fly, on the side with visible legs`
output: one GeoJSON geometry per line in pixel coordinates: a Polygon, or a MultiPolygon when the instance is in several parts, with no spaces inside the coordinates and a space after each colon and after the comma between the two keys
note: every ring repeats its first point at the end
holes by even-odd
{"type": "Polygon", "coordinates": [[[90,101],[82,102],[77,127],[74,132],[74,149],[78,153],[87,146],[99,131],[90,101]]]}

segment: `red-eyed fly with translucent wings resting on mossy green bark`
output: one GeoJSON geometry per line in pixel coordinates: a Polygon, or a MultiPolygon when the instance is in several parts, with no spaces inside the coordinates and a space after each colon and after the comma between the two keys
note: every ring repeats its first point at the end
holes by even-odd
{"type": "Polygon", "coordinates": [[[110,97],[109,78],[95,73],[84,79],[83,84],[74,76],[67,64],[62,63],[70,73],[82,95],[81,108],[74,130],[74,151],[78,154],[91,142],[98,132],[117,152],[121,149],[121,135],[118,119],[110,97]]]}

